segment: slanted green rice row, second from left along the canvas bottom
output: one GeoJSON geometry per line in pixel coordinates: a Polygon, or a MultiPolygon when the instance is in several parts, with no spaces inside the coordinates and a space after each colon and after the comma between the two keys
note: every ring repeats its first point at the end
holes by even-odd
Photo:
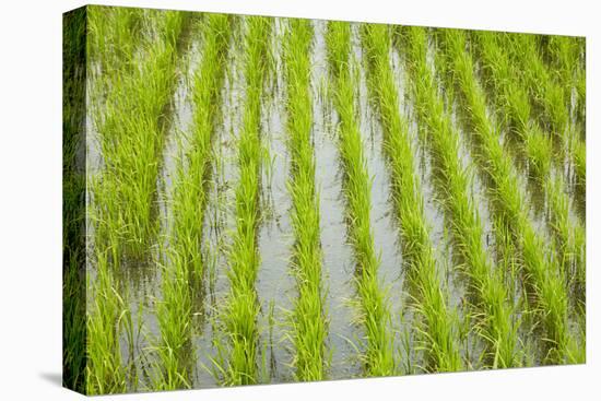
{"type": "Polygon", "coordinates": [[[199,288],[204,272],[200,249],[205,187],[229,33],[228,16],[207,15],[202,32],[202,61],[192,83],[192,129],[186,141],[186,157],[178,160],[172,197],[173,226],[163,269],[163,299],[156,309],[161,339],[155,347],[155,389],[191,387],[192,292],[199,288]]]}

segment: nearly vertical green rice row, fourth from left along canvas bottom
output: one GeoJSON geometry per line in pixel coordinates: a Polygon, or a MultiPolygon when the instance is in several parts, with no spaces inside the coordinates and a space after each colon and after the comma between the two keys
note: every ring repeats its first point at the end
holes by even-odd
{"type": "Polygon", "coordinates": [[[294,347],[292,365],[302,381],[326,378],[328,320],[321,294],[319,201],[311,144],[310,48],[313,27],[307,20],[290,20],[283,59],[286,90],[287,148],[292,199],[291,223],[295,244],[292,264],[298,296],[294,300],[288,338],[294,347]]]}

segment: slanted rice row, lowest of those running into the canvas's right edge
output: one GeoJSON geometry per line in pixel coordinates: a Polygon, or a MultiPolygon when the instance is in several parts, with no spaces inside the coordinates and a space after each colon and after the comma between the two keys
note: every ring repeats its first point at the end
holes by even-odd
{"type": "MultiPolygon", "coordinates": [[[[518,80],[518,69],[497,42],[495,33],[476,33],[479,56],[483,71],[492,83],[497,107],[508,117],[511,133],[520,144],[537,178],[537,182],[546,192],[552,216],[553,231],[558,239],[558,257],[566,269],[570,283],[582,285],[585,282],[585,241],[584,226],[569,215],[569,194],[564,190],[562,175],[551,173],[552,141],[542,132],[531,113],[527,90],[518,80]],[[569,269],[569,270],[568,270],[569,269]]],[[[461,46],[459,43],[457,46],[461,46]]]]}

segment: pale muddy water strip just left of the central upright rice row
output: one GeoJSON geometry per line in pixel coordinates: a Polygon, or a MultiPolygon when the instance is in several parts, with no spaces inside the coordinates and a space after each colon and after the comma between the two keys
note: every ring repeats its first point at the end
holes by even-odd
{"type": "Polygon", "coordinates": [[[274,50],[275,71],[264,91],[273,91],[272,97],[263,96],[261,106],[261,142],[266,151],[261,174],[262,215],[259,226],[259,255],[261,263],[257,275],[257,294],[261,304],[261,351],[266,353],[267,369],[271,382],[292,380],[290,352],[284,346],[286,311],[292,310],[296,296],[293,276],[290,274],[290,257],[294,241],[286,189],[290,160],[286,151],[284,76],[281,55],[285,20],[275,19],[271,48],[274,50]]]}

